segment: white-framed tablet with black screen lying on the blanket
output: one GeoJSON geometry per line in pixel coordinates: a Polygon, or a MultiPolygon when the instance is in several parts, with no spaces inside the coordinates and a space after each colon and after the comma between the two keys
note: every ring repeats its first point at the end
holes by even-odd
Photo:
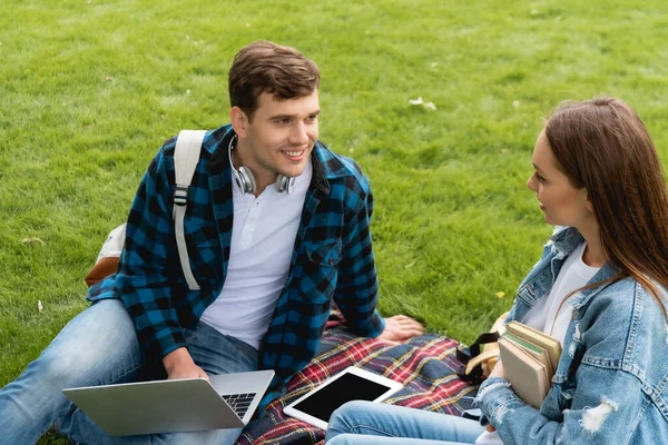
{"type": "Polygon", "coordinates": [[[332,413],[346,402],[382,402],[403,388],[399,382],[350,366],[297,398],[283,411],[288,416],[327,429],[332,413]]]}

